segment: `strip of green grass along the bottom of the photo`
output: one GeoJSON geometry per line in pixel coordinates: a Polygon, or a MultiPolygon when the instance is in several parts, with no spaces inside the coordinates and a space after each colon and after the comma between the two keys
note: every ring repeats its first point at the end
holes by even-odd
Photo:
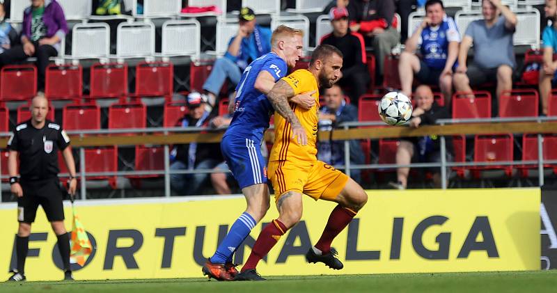
{"type": "Polygon", "coordinates": [[[269,277],[266,282],[202,278],[1,283],[0,292],[557,292],[557,270],[493,273],[269,277]]]}

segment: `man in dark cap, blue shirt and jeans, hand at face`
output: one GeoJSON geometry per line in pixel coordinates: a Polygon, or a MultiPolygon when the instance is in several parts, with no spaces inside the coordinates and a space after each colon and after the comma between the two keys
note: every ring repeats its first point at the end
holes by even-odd
{"type": "Polygon", "coordinates": [[[239,21],[238,33],[230,38],[226,54],[215,61],[211,74],[203,84],[210,106],[217,103],[226,79],[237,86],[249,63],[271,52],[272,32],[256,24],[256,15],[251,8],[244,7],[240,10],[239,21]]]}

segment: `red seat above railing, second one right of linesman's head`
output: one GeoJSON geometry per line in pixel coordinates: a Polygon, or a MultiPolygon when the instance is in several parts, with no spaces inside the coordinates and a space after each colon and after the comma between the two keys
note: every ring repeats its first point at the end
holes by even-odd
{"type": "Polygon", "coordinates": [[[147,109],[140,102],[118,103],[109,106],[109,129],[145,128],[147,109]]]}

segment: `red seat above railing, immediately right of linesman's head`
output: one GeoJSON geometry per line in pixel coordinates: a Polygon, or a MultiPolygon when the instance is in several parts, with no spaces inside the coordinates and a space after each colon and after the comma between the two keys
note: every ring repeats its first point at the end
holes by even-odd
{"type": "Polygon", "coordinates": [[[97,104],[67,104],[62,110],[65,130],[100,129],[100,108],[97,104]]]}

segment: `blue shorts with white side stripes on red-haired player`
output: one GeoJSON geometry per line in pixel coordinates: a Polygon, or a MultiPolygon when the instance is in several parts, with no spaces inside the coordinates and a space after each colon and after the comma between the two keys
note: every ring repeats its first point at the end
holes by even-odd
{"type": "Polygon", "coordinates": [[[221,151],[240,189],[253,184],[267,184],[267,169],[261,155],[260,141],[224,136],[221,151]]]}

